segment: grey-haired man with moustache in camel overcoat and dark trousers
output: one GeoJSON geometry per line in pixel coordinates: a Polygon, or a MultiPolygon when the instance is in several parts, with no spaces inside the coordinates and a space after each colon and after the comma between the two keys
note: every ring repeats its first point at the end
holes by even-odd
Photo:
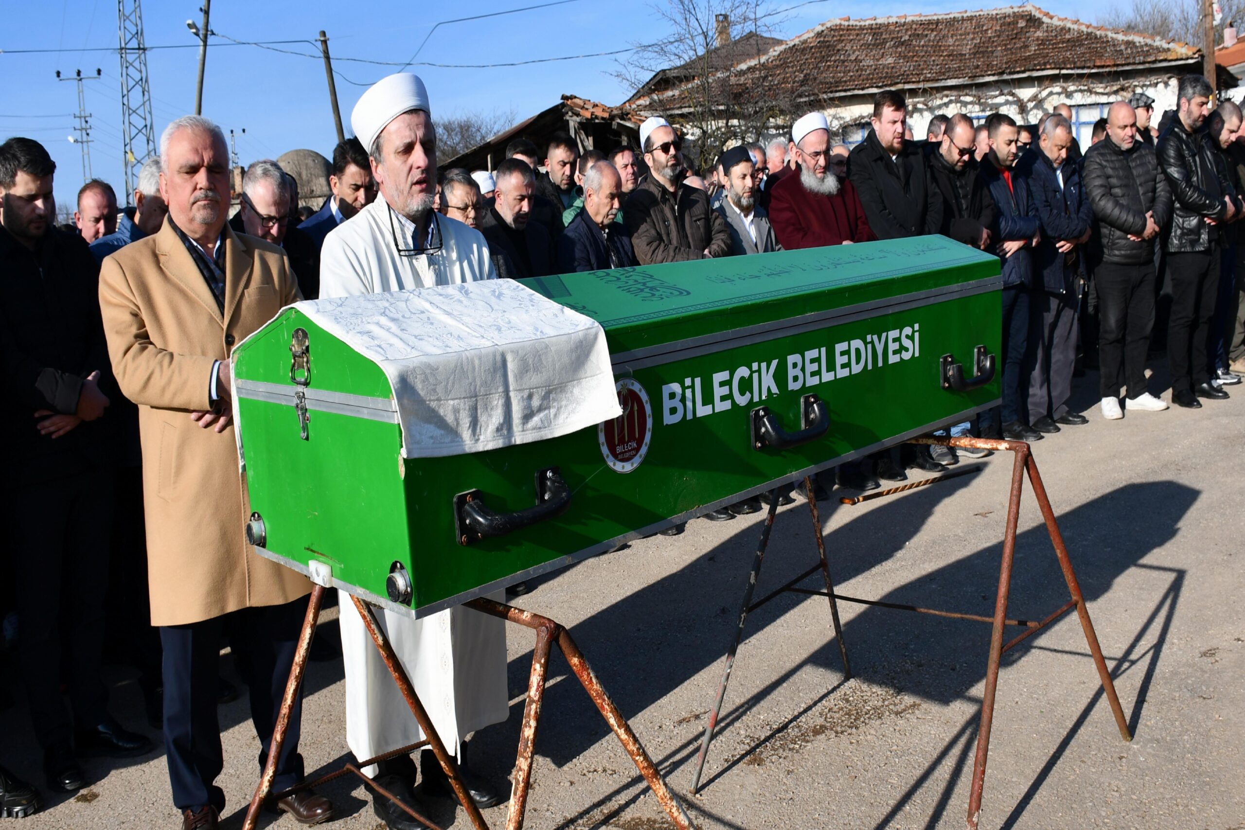
{"type": "MultiPolygon", "coordinates": [[[[158,233],[105,259],[100,306],[113,372],[138,404],[152,625],[164,646],[164,744],[183,828],[215,828],[224,793],[217,720],[222,635],[250,689],[263,767],[303,616],[308,580],[244,541],[247,503],[230,424],[229,353],[300,299],[280,248],[228,228],[229,153],[205,118],[161,138],[158,233]],[[203,693],[203,689],[209,689],[203,693]]],[[[300,706],[274,790],[303,779],[300,706]]],[[[258,774],[256,774],[258,780],[258,774]]],[[[304,790],[270,805],[303,824],[332,805],[304,790]]]]}

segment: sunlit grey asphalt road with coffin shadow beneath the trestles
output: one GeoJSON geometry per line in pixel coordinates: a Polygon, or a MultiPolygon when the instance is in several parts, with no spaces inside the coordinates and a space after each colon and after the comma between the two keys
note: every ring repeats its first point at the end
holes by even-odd
{"type": "MultiPolygon", "coordinates": [[[[1241,830],[1245,828],[1245,392],[1200,411],[1098,414],[1096,376],[1077,382],[1091,423],[1033,445],[1135,738],[1103,699],[1074,613],[1008,652],[998,679],[981,826],[1241,830]]],[[[890,602],[992,612],[1011,459],[858,506],[823,505],[837,589],[890,602]]],[[[569,626],[700,828],[962,828],[989,626],[842,604],[854,677],[844,681],[824,597],[784,594],[749,616],[703,789],[688,795],[696,748],[763,514],[652,538],[545,577],[517,605],[569,626]]],[[[758,596],[813,565],[804,501],[783,508],[758,596]]],[[[813,576],[807,587],[819,587],[813,576]]],[[[1041,618],[1067,590],[1026,489],[1010,615],[1041,618]]],[[[335,630],[327,615],[326,630],[335,630]]],[[[1015,631],[1015,630],[1013,630],[1015,631]]],[[[483,730],[473,762],[504,785],[533,637],[510,627],[510,718],[483,730]]],[[[232,666],[224,661],[227,673],[232,666]]],[[[0,712],[0,763],[41,783],[19,704],[0,712]]],[[[309,770],[346,758],[340,661],[314,663],[304,708],[309,770]]],[[[142,723],[133,674],[110,668],[116,713],[142,723]]],[[[670,826],[656,799],[555,656],[527,826],[670,826]]],[[[245,698],[220,709],[239,828],[258,740],[245,698]]],[[[158,740],[159,735],[154,735],[158,740]]],[[[92,784],[50,796],[2,826],[177,828],[163,753],[88,760],[92,784]]],[[[374,830],[362,786],[326,785],[332,826],[374,830]]],[[[468,826],[446,800],[433,818],[468,826]]],[[[504,808],[487,811],[504,826],[504,808]]],[[[290,818],[265,819],[294,828],[290,818]]]]}

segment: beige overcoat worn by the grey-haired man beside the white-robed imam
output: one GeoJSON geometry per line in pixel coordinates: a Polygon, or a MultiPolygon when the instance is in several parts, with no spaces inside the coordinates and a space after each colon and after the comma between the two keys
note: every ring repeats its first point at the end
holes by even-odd
{"type": "Polygon", "coordinates": [[[238,448],[190,421],[212,408],[214,361],[299,299],[285,253],[225,225],[225,311],[177,231],[126,245],[103,260],[100,309],[117,383],[138,404],[152,625],[199,622],[310,590],[298,572],[245,543],[238,448]]]}

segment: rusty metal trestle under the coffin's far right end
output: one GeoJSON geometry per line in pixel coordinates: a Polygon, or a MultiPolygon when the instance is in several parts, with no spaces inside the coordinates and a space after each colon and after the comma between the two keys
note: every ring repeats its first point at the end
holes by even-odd
{"type": "MultiPolygon", "coordinates": [[[[809,509],[813,514],[813,523],[815,526],[815,536],[818,543],[818,551],[820,553],[820,562],[808,569],[796,579],[791,580],[778,590],[768,594],[757,602],[752,602],[752,592],[756,589],[757,577],[761,572],[761,564],[764,559],[766,545],[769,541],[769,531],[773,526],[774,509],[777,499],[771,501],[769,515],[766,518],[766,525],[761,534],[761,545],[757,550],[756,560],[752,565],[752,572],[748,576],[748,584],[745,589],[743,595],[743,609],[740,613],[740,623],[736,627],[731,647],[726,655],[726,666],[722,673],[722,682],[718,687],[717,699],[713,703],[713,709],[710,713],[708,725],[705,729],[705,739],[701,743],[700,754],[696,759],[696,778],[692,783],[692,793],[695,794],[700,788],[701,772],[705,765],[705,758],[708,753],[710,742],[713,738],[713,729],[717,725],[718,714],[722,707],[722,699],[726,696],[726,686],[731,677],[731,667],[735,663],[735,653],[740,646],[740,640],[743,636],[743,621],[749,611],[756,610],[761,605],[768,602],[773,597],[778,596],[784,591],[792,591],[796,594],[808,594],[817,596],[828,596],[830,600],[830,615],[834,622],[834,635],[839,641],[839,651],[843,655],[843,667],[845,678],[852,677],[852,669],[848,663],[847,648],[843,643],[843,635],[839,626],[839,615],[837,601],[842,600],[844,602],[857,602],[860,605],[873,605],[884,609],[895,609],[900,611],[915,611],[918,613],[930,613],[941,617],[952,617],[957,620],[972,620],[977,622],[990,622],[992,625],[992,633],[990,638],[990,656],[986,662],[986,686],[981,699],[981,719],[980,727],[977,729],[977,750],[976,757],[972,763],[972,786],[969,793],[969,814],[966,820],[967,830],[977,830],[977,824],[981,816],[981,795],[986,779],[986,757],[990,750],[990,728],[994,723],[995,716],[995,698],[998,688],[998,666],[1002,660],[1003,652],[1015,648],[1022,643],[1028,637],[1033,636],[1046,626],[1051,625],[1064,613],[1072,609],[1077,610],[1077,616],[1081,618],[1081,627],[1084,632],[1086,642],[1089,646],[1089,652],[1093,656],[1094,666],[1098,669],[1098,678],[1102,682],[1103,692],[1106,693],[1107,702],[1111,706],[1112,714],[1116,718],[1116,725],[1119,728],[1119,734],[1124,740],[1132,740],[1133,737],[1128,730],[1128,720],[1124,717],[1124,712],[1119,706],[1119,697],[1116,694],[1116,686],[1111,678],[1111,671],[1107,668],[1107,662],[1102,656],[1102,647],[1098,645],[1098,636],[1094,632],[1093,622],[1089,620],[1089,611],[1086,607],[1084,596],[1081,592],[1081,586],[1077,582],[1076,572],[1072,569],[1072,560],[1068,556],[1067,545],[1063,541],[1063,534],[1059,531],[1059,525],[1055,519],[1055,510],[1051,508],[1051,500],[1046,494],[1046,487],[1042,483],[1042,477],[1037,472],[1037,462],[1033,460],[1033,455],[1030,452],[1030,447],[1025,442],[1020,441],[990,441],[984,438],[939,438],[939,437],[925,437],[914,438],[911,442],[914,444],[941,444],[944,447],[969,447],[977,449],[990,449],[994,452],[1011,452],[1013,453],[1013,465],[1012,465],[1012,482],[1011,493],[1007,503],[1007,525],[1003,533],[1003,550],[1002,560],[998,567],[998,589],[995,600],[995,613],[994,616],[982,616],[974,613],[960,613],[954,611],[940,611],[936,609],[925,609],[914,605],[901,605],[898,602],[881,602],[876,600],[862,600],[859,597],[845,596],[843,594],[837,594],[830,582],[830,572],[825,560],[825,543],[822,535],[822,524],[817,515],[817,501],[812,498],[813,483],[809,479],[806,480],[806,487],[809,493],[809,509]],[[1025,477],[1028,477],[1030,487],[1033,489],[1033,495],[1037,499],[1038,509],[1042,513],[1042,519],[1046,523],[1047,533],[1051,536],[1051,543],[1055,546],[1055,555],[1059,560],[1059,567],[1063,571],[1063,579],[1068,586],[1068,594],[1071,599],[1051,612],[1042,620],[1020,620],[1007,617],[1007,600],[1011,591],[1011,575],[1012,564],[1016,555],[1016,529],[1020,521],[1020,498],[1025,484],[1025,477]],[[808,589],[797,587],[797,585],[810,576],[813,571],[822,569],[822,574],[825,579],[825,591],[813,591],[808,589]],[[1023,631],[1013,637],[1012,640],[1003,642],[1003,628],[1006,626],[1017,626],[1023,628],[1023,631]]],[[[844,504],[859,504],[862,501],[872,500],[873,498],[880,498],[883,495],[889,495],[891,493],[900,493],[914,487],[924,487],[926,484],[934,484],[950,478],[957,478],[959,475],[977,472],[980,468],[971,470],[964,470],[952,473],[949,475],[942,475],[940,478],[925,479],[915,484],[909,484],[904,487],[893,488],[890,490],[884,490],[880,493],[872,493],[867,497],[859,497],[854,499],[842,499],[844,504]]]]}

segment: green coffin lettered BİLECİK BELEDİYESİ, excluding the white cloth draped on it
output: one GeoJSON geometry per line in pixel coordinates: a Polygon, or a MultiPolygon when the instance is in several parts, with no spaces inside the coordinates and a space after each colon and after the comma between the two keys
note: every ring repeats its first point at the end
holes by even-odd
{"type": "Polygon", "coordinates": [[[995,406],[998,270],[925,236],[527,280],[600,322],[624,413],[446,458],[402,458],[385,373],[291,306],[234,353],[248,535],[416,617],[493,592],[995,406]],[[563,493],[552,475],[559,515],[463,523],[468,497],[504,514],[563,493]]]}

